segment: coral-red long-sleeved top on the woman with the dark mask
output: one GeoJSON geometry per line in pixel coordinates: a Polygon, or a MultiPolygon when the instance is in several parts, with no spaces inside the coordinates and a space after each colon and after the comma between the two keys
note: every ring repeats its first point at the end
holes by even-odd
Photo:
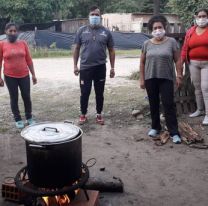
{"type": "Polygon", "coordinates": [[[0,65],[4,61],[4,75],[23,78],[29,74],[28,66],[33,64],[27,43],[18,40],[14,43],[0,42],[0,65]]]}

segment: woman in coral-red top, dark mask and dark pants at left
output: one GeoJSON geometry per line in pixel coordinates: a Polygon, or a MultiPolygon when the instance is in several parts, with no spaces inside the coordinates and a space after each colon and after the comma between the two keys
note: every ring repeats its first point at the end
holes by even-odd
{"type": "Polygon", "coordinates": [[[27,43],[17,40],[17,25],[15,23],[8,23],[5,27],[5,33],[7,41],[0,42],[0,86],[4,86],[4,81],[1,77],[3,61],[4,80],[9,90],[11,110],[16,127],[22,129],[24,128],[24,122],[22,121],[18,107],[18,88],[21,91],[24,102],[26,122],[29,125],[33,124],[29,72],[32,74],[33,84],[37,83],[37,79],[27,43]]]}

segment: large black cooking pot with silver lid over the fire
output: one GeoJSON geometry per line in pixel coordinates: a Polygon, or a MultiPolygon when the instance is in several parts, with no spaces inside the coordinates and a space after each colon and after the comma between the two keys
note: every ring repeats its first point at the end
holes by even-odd
{"type": "Polygon", "coordinates": [[[78,180],[82,173],[82,130],[62,122],[26,127],[28,177],[44,188],[61,188],[78,180]]]}

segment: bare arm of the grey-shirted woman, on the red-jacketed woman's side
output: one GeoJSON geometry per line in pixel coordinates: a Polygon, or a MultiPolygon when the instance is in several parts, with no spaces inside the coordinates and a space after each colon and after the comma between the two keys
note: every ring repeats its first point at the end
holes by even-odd
{"type": "Polygon", "coordinates": [[[176,66],[176,84],[177,87],[180,87],[182,84],[182,79],[183,79],[183,64],[182,64],[182,60],[180,58],[180,51],[177,50],[174,52],[174,62],[175,62],[175,66],[176,66]]]}

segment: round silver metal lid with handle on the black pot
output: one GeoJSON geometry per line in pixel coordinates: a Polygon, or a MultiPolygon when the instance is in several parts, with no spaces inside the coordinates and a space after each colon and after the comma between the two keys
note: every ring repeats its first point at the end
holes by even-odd
{"type": "Polygon", "coordinates": [[[72,140],[80,128],[68,122],[41,122],[25,127],[21,136],[29,142],[53,144],[72,140]]]}

